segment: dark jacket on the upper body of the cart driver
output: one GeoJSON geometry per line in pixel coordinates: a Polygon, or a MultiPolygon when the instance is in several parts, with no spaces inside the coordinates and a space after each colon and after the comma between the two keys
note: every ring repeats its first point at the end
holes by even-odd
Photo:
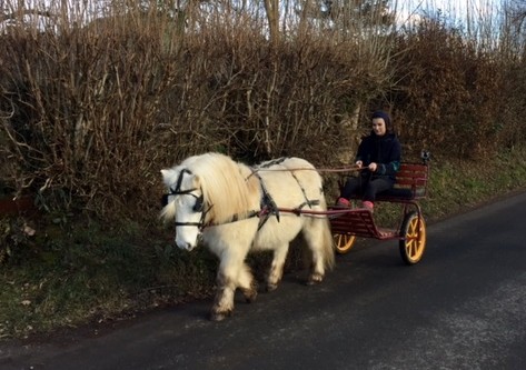
{"type": "MultiPolygon", "coordinates": [[[[355,161],[363,161],[364,167],[371,162],[378,164],[378,169],[373,177],[387,177],[395,180],[396,172],[400,169],[401,146],[397,136],[393,132],[386,132],[378,137],[374,131],[365,137],[356,154],[355,161]]],[[[369,176],[369,170],[364,170],[363,176],[369,176]]]]}

